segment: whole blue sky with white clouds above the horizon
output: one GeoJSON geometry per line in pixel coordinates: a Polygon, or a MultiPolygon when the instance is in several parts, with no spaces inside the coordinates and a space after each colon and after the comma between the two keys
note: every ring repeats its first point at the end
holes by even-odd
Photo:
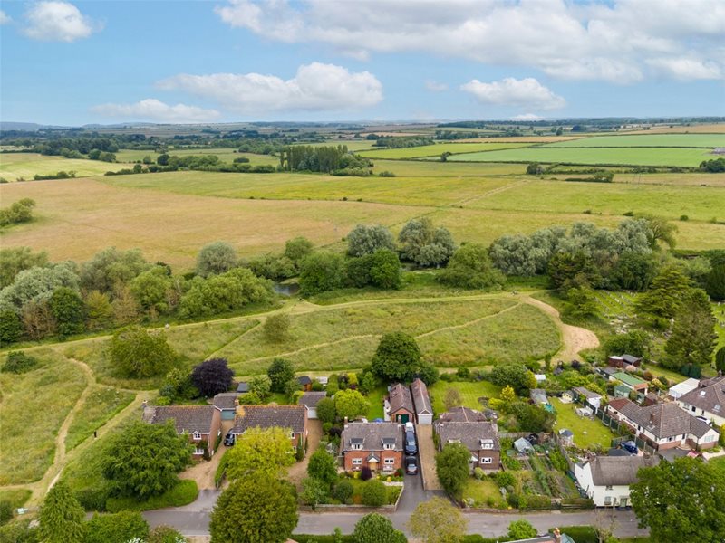
{"type": "Polygon", "coordinates": [[[725,0],[0,3],[0,119],[725,115],[725,0]]]}

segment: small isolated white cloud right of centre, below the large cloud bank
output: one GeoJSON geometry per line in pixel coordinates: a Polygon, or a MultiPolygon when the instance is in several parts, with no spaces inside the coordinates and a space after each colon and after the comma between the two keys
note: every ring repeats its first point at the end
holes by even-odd
{"type": "Polygon", "coordinates": [[[566,100],[558,96],[533,77],[522,80],[513,77],[501,81],[484,83],[478,80],[461,85],[482,104],[513,106],[530,110],[558,110],[566,105],[566,100]]]}

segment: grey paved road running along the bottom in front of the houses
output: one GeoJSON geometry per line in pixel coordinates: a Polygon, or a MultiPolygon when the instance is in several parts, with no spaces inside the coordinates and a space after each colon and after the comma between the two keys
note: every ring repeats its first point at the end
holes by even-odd
{"type": "MultiPolygon", "coordinates": [[[[407,533],[406,523],[415,506],[420,500],[440,495],[440,492],[424,491],[420,475],[406,477],[406,485],[398,510],[391,513],[389,517],[397,529],[402,529],[407,533]]],[[[199,498],[194,503],[179,508],[146,511],[143,516],[151,526],[167,524],[178,529],[185,536],[204,536],[208,535],[209,514],[217,498],[218,491],[200,491],[199,498]]],[[[633,538],[647,535],[647,530],[637,528],[637,519],[632,511],[615,511],[614,516],[618,523],[615,530],[617,536],[633,538]]],[[[547,511],[524,515],[467,513],[466,517],[469,519],[469,533],[495,537],[506,533],[508,523],[516,519],[527,519],[540,533],[544,533],[555,526],[591,526],[594,524],[595,513],[594,511],[575,513],[547,511]]],[[[343,533],[352,533],[355,523],[361,518],[362,513],[300,513],[295,533],[331,534],[335,528],[342,529],[343,533]]]]}

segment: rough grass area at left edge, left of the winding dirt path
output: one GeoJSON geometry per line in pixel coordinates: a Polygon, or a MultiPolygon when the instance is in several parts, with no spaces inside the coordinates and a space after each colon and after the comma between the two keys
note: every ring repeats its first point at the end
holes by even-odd
{"type": "Polygon", "coordinates": [[[55,436],[87,384],[82,371],[53,350],[37,349],[33,356],[41,361],[33,371],[0,374],[4,433],[0,485],[43,477],[53,462],[55,436]]]}

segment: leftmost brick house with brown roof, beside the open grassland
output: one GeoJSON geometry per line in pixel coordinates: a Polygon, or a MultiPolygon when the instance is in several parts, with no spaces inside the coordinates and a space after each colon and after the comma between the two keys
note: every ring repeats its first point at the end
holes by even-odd
{"type": "Polygon", "coordinates": [[[189,435],[189,443],[195,447],[192,454],[194,460],[202,460],[205,449],[209,457],[213,456],[221,435],[221,413],[213,405],[144,405],[143,420],[149,424],[174,421],[179,435],[189,435]]]}

